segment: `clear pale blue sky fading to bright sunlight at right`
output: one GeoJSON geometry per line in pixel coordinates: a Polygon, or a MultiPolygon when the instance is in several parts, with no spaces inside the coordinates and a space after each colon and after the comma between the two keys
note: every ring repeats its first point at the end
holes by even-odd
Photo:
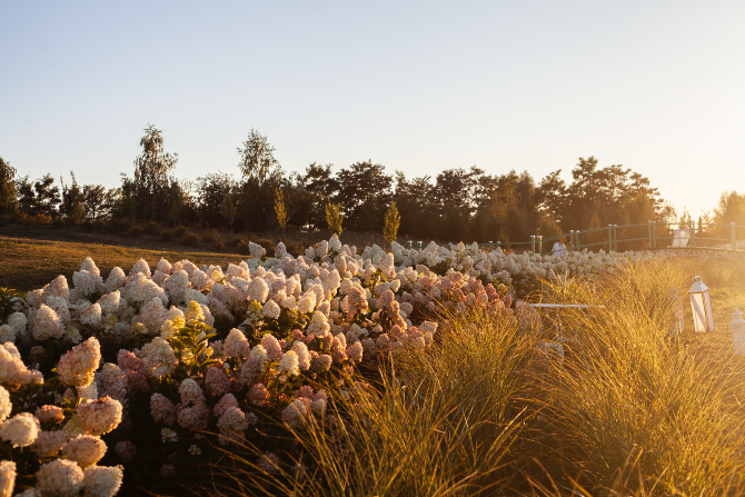
{"type": "Polygon", "coordinates": [[[0,156],[20,175],[131,175],[142,129],[176,176],[371,159],[539,181],[579,157],[697,216],[745,191],[745,2],[0,0],[0,156]]]}

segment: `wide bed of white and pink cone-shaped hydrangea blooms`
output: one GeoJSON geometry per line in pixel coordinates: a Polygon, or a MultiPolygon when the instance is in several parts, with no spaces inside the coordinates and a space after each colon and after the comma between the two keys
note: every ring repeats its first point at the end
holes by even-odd
{"type": "Polygon", "coordinates": [[[329,397],[318,385],[335,379],[347,395],[355,385],[344,378],[360,362],[426,349],[439,306],[511,318],[516,280],[642,257],[397,243],[358,255],[336,236],[299,258],[282,243],[271,258],[250,251],[225,270],[161,260],[151,271],[140,260],[106,279],[88,258],[71,288],[60,276],[0,306],[0,495],[110,496],[121,465],[157,489],[247,439],[266,448],[258,467],[271,471],[287,463],[282,430],[322,423],[329,397]]]}

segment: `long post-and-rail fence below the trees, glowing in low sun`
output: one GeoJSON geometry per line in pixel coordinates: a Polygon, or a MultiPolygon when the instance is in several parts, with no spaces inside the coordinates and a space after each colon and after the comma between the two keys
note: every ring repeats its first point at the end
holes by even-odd
{"type": "MultiPolygon", "coordinates": [[[[488,241],[478,243],[478,246],[487,251],[501,248],[503,250],[523,250],[532,254],[550,254],[554,241],[565,240],[568,250],[585,248],[607,251],[663,249],[668,248],[669,242],[675,239],[673,235],[675,228],[673,227],[688,228],[689,238],[686,247],[703,248],[726,243],[729,250],[737,250],[737,230],[741,230],[741,232],[745,230],[745,226],[736,226],[734,222],[725,225],[716,222],[696,223],[693,220],[683,223],[647,221],[638,225],[608,225],[603,228],[569,230],[567,233],[553,237],[530,235],[528,241],[488,241]],[[622,236],[628,235],[628,238],[619,238],[619,231],[622,236]]],[[[421,241],[418,242],[418,247],[413,247],[413,242],[409,241],[409,248],[421,249],[421,241]]]]}

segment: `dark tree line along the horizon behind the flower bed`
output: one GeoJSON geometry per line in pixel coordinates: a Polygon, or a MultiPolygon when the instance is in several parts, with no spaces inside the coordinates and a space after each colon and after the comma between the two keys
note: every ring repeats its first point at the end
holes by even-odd
{"type": "MultiPolygon", "coordinates": [[[[527,171],[488,175],[475,166],[407,178],[371,160],[336,170],[314,162],[288,173],[267,137],[252,129],[237,147],[237,176],[215,171],[183,180],[176,177],[178,155],[166,151],[162,131],[152,125],[143,131],[132,175],[122,175],[118,188],[79,185],[73,172],[69,182],[51,175],[31,180],[0,158],[0,219],[117,218],[264,232],[327,228],[331,206],[346,230],[383,232],[396,202],[403,235],[507,242],[677,216],[648,178],[619,165],[599,167],[595,157],[579,158],[568,183],[560,169],[536,181],[527,171]]],[[[745,196],[723,193],[706,221],[714,218],[745,225],[745,196]]]]}

